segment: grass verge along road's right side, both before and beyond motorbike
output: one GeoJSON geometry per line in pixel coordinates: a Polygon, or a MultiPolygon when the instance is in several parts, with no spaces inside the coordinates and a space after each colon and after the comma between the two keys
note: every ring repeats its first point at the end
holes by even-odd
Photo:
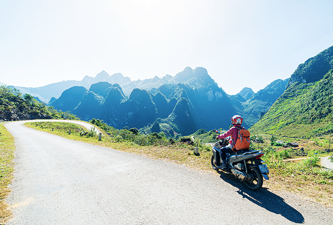
{"type": "MultiPolygon", "coordinates": [[[[98,141],[97,136],[80,136],[80,132],[83,131],[83,128],[76,124],[37,122],[25,123],[25,125],[71,140],[143,155],[151,159],[172,161],[200,171],[214,172],[210,163],[212,155],[211,150],[202,144],[195,143],[192,146],[176,142],[167,145],[156,144],[141,146],[107,134],[103,135],[101,141],[98,141]],[[53,131],[51,128],[53,128],[53,131]],[[71,134],[68,132],[69,129],[71,129],[71,134]],[[199,155],[194,155],[193,153],[193,148],[195,146],[199,148],[199,155]]],[[[270,180],[265,181],[263,187],[277,191],[297,193],[305,199],[318,202],[322,205],[333,206],[333,171],[321,168],[318,164],[318,160],[316,161],[316,164],[309,164],[309,162],[307,164],[305,160],[298,163],[283,162],[283,159],[292,158],[290,156],[291,154],[289,154],[292,149],[287,151],[286,149],[280,149],[279,147],[271,147],[270,144],[268,144],[270,141],[269,139],[269,137],[266,137],[264,138],[265,142],[263,144],[253,145],[254,149],[262,149],[266,153],[263,159],[267,162],[269,167],[270,180]]],[[[299,142],[301,142],[301,140],[299,140],[299,142]]],[[[306,140],[303,140],[303,142],[306,143],[306,140]]],[[[313,145],[313,142],[310,144],[311,148],[309,148],[308,152],[311,152],[316,148],[316,146],[313,145]]]]}

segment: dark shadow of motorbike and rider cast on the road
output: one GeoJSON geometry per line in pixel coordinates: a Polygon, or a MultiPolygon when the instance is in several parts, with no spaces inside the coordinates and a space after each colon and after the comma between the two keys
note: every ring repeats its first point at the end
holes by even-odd
{"type": "Polygon", "coordinates": [[[233,185],[234,187],[237,187],[239,189],[237,193],[240,194],[243,198],[253,202],[260,207],[263,207],[272,213],[280,214],[291,222],[297,224],[304,223],[304,217],[302,214],[285,203],[285,200],[280,196],[268,191],[265,188],[262,188],[258,191],[252,191],[232,175],[220,171],[218,173],[221,175],[220,178],[222,180],[233,185]]]}

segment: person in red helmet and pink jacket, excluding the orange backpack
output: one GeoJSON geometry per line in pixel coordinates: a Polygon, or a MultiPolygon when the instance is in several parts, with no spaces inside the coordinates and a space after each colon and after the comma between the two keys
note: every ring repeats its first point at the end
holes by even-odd
{"type": "Polygon", "coordinates": [[[229,145],[221,148],[221,159],[222,159],[221,167],[224,169],[228,168],[228,165],[226,162],[226,153],[236,152],[236,150],[233,150],[236,140],[238,138],[238,130],[236,127],[241,128],[241,125],[243,123],[243,117],[241,117],[240,115],[235,115],[231,118],[231,123],[232,123],[233,127],[231,127],[226,133],[220,134],[219,136],[217,136],[215,138],[217,140],[217,139],[227,138],[229,136],[231,137],[229,139],[229,145]]]}

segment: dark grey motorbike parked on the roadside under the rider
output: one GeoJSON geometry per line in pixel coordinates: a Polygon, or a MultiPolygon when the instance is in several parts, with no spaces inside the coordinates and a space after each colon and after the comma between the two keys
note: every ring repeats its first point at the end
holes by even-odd
{"type": "Polygon", "coordinates": [[[226,153],[226,161],[228,168],[224,169],[221,167],[222,159],[220,155],[220,149],[229,144],[227,139],[221,139],[216,142],[213,147],[212,155],[212,167],[214,170],[222,170],[229,174],[234,175],[241,182],[251,190],[259,190],[263,186],[263,177],[265,180],[269,180],[269,170],[265,161],[260,158],[265,154],[262,151],[254,150],[239,150],[235,153],[226,153]]]}

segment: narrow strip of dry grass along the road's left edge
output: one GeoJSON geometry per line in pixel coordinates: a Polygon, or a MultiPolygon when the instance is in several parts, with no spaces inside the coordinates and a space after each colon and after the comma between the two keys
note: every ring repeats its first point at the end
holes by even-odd
{"type": "Polygon", "coordinates": [[[12,215],[4,200],[10,193],[8,185],[13,179],[14,150],[14,138],[3,126],[3,123],[0,123],[0,224],[6,223],[12,215]]]}

